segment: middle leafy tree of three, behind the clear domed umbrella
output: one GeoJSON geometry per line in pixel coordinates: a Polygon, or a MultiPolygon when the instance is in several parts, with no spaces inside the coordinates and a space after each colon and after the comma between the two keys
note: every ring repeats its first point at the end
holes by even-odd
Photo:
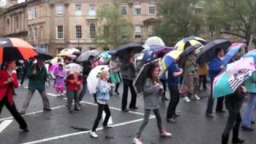
{"type": "Polygon", "coordinates": [[[202,15],[195,14],[199,0],[158,0],[160,22],[154,26],[154,34],[168,45],[181,38],[198,35],[203,25],[202,15]]]}

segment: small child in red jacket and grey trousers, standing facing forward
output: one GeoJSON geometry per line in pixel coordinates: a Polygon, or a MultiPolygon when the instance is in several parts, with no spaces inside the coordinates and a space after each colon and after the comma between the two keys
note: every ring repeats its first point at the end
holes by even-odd
{"type": "Polygon", "coordinates": [[[66,78],[67,109],[72,113],[71,106],[74,99],[74,110],[81,110],[78,106],[78,92],[82,85],[82,75],[78,73],[69,74],[66,78]]]}

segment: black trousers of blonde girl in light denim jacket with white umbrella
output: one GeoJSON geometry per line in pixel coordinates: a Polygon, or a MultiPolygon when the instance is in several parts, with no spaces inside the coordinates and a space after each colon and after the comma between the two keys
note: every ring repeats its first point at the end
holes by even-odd
{"type": "Polygon", "coordinates": [[[109,107],[108,104],[103,105],[103,104],[98,103],[98,114],[97,114],[97,118],[94,121],[94,126],[93,126],[92,131],[95,131],[97,129],[98,123],[102,119],[103,110],[106,113],[106,117],[104,119],[103,126],[107,126],[107,122],[109,122],[109,118],[110,118],[110,115],[111,115],[110,107],[109,107]]]}

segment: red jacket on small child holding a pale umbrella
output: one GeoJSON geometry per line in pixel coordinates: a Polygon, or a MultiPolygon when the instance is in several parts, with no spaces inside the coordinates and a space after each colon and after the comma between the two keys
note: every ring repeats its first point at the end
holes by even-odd
{"type": "Polygon", "coordinates": [[[66,77],[66,90],[78,91],[81,89],[82,76],[78,74],[78,79],[74,79],[74,74],[70,74],[66,77]]]}

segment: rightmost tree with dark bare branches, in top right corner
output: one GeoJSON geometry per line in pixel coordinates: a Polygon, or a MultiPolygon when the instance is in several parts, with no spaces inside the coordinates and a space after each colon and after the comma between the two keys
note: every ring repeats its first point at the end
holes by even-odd
{"type": "Polygon", "coordinates": [[[206,21],[214,25],[220,34],[230,34],[250,42],[256,28],[255,0],[206,0],[206,21]],[[223,29],[230,26],[231,30],[223,29]]]}

